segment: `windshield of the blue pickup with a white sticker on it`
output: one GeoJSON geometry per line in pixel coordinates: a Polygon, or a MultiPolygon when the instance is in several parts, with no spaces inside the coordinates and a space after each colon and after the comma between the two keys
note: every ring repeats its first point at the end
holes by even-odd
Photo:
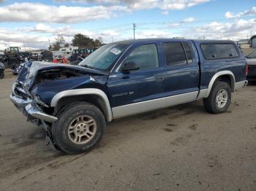
{"type": "Polygon", "coordinates": [[[127,44],[106,44],[86,57],[79,66],[100,71],[109,71],[113,63],[127,49],[127,44]]]}

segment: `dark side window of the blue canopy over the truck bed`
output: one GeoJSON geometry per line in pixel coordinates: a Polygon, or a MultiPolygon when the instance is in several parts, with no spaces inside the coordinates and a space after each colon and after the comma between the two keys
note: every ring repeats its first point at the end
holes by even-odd
{"type": "Polygon", "coordinates": [[[234,44],[201,44],[201,50],[208,60],[238,57],[234,44]]]}

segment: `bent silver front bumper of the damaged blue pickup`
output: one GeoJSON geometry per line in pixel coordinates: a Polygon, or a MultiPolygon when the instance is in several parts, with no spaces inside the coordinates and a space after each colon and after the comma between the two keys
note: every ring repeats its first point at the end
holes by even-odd
{"type": "Polygon", "coordinates": [[[56,122],[56,120],[58,120],[57,117],[43,112],[36,101],[17,95],[15,93],[15,87],[12,90],[10,99],[12,103],[15,104],[15,106],[20,110],[20,112],[23,112],[23,114],[27,117],[34,117],[35,119],[50,123],[56,122]]]}

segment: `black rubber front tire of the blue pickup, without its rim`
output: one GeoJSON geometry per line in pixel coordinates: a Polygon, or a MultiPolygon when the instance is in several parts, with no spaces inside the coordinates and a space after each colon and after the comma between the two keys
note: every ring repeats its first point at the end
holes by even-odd
{"type": "Polygon", "coordinates": [[[102,112],[94,106],[87,102],[78,102],[76,104],[71,104],[67,106],[61,114],[58,116],[58,120],[53,123],[52,126],[52,136],[55,144],[61,149],[61,151],[68,154],[79,154],[83,152],[88,152],[90,149],[95,147],[99,141],[102,139],[105,133],[105,116],[102,112]],[[69,139],[68,129],[69,125],[76,117],[79,116],[89,116],[93,118],[97,125],[94,137],[86,144],[75,144],[69,139]]]}

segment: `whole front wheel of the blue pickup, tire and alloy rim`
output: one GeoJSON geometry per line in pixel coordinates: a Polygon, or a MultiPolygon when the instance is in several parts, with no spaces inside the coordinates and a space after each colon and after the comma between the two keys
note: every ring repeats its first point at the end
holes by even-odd
{"type": "Polygon", "coordinates": [[[105,117],[94,105],[78,103],[67,106],[53,124],[53,140],[69,154],[87,152],[102,139],[105,117]]]}

